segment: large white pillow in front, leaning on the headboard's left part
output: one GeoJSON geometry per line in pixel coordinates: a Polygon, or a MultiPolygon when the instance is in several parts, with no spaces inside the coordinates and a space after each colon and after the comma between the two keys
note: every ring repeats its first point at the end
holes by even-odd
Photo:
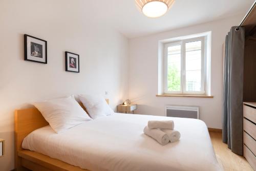
{"type": "Polygon", "coordinates": [[[73,96],[33,103],[52,129],[62,132],[84,121],[92,120],[73,96]]]}

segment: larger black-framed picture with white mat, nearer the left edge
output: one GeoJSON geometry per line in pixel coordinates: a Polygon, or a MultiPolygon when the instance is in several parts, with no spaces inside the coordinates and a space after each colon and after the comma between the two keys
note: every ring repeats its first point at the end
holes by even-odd
{"type": "Polygon", "coordinates": [[[47,63],[47,41],[24,34],[24,59],[47,63]]]}

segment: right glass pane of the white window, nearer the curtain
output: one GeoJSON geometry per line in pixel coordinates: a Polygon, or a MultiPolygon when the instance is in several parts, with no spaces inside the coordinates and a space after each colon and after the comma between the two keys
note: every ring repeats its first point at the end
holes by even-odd
{"type": "Polygon", "coordinates": [[[186,42],[186,91],[201,90],[201,40],[186,42]]]}

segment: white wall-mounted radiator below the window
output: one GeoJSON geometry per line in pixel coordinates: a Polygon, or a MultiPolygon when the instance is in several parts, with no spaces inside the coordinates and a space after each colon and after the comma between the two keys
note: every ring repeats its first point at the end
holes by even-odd
{"type": "Polygon", "coordinates": [[[168,117],[199,119],[199,107],[195,106],[166,106],[165,114],[168,117]]]}

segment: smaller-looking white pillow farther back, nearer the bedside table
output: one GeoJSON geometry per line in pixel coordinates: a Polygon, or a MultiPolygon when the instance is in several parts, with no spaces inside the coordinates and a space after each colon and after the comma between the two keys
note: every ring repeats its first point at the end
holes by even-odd
{"type": "Polygon", "coordinates": [[[106,100],[101,96],[79,95],[79,99],[93,119],[114,113],[109,104],[106,103],[106,100]]]}

